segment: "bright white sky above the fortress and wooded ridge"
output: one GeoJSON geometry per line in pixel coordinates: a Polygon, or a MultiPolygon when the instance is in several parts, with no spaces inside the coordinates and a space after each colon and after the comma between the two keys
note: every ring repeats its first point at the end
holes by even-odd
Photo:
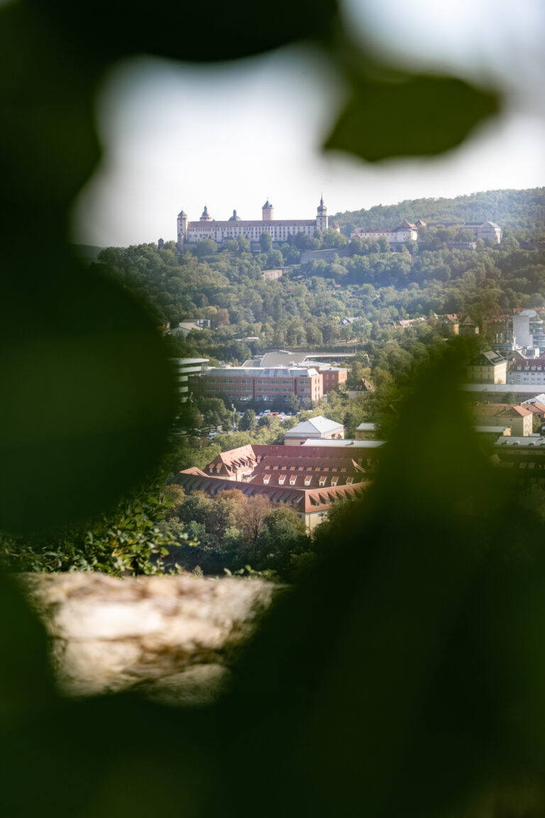
{"type": "Polygon", "coordinates": [[[220,67],[141,57],[112,71],[98,103],[101,167],[74,208],[74,240],[127,246],[176,238],[176,215],[314,218],[422,196],[545,185],[543,0],[345,0],[353,29],[400,64],[487,75],[499,119],[457,151],[365,164],[320,142],[342,88],[323,57],[289,47],[220,67]]]}

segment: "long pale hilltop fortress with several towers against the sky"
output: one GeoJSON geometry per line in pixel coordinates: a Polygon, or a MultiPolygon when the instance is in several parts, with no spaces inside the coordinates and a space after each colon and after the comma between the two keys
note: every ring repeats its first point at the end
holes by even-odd
{"type": "MultiPolygon", "coordinates": [[[[273,241],[286,241],[288,236],[296,236],[297,233],[306,233],[307,236],[314,236],[315,230],[327,230],[328,209],[324,205],[324,199],[319,200],[315,218],[287,218],[275,219],[275,209],[266,200],[261,208],[261,219],[247,222],[237,215],[233,210],[233,215],[226,222],[217,222],[213,219],[208,208],[205,207],[198,222],[189,222],[187,213],[183,210],[178,213],[178,248],[185,244],[195,244],[203,239],[213,239],[221,244],[224,241],[236,239],[243,236],[248,241],[258,244],[261,233],[270,233],[273,241]]],[[[331,225],[334,230],[340,232],[341,228],[337,222],[331,225]]]]}

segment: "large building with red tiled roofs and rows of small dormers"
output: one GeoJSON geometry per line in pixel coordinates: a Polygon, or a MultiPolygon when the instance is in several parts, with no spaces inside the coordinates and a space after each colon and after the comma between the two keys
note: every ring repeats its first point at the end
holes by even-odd
{"type": "Polygon", "coordinates": [[[311,531],[335,503],[360,497],[369,475],[363,452],[315,445],[247,445],[221,452],[204,469],[185,469],[175,483],[186,492],[217,497],[238,488],[246,497],[270,498],[273,506],[292,508],[311,531]]]}

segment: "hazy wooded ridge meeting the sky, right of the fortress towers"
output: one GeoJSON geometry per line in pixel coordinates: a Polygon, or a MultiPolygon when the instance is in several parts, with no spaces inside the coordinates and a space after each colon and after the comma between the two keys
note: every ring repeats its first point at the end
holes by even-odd
{"type": "Polygon", "coordinates": [[[543,230],[545,187],[526,191],[485,191],[455,199],[410,199],[398,205],[376,205],[369,210],[347,210],[333,218],[343,233],[355,227],[395,227],[404,220],[413,222],[497,222],[515,230],[543,230]]]}

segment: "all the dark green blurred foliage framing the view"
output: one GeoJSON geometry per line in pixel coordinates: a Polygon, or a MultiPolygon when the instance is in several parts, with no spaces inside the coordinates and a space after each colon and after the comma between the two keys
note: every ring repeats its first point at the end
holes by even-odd
{"type": "MultiPolygon", "coordinates": [[[[114,60],[217,61],[308,38],[355,89],[328,145],[372,160],[377,145],[456,145],[497,105],[453,78],[377,66],[333,0],[282,0],[274,14],[212,2],[205,25],[201,7],[172,9],[20,0],[0,11],[2,530],[43,533],[114,507],[158,461],[174,412],[157,321],[66,244],[100,156],[94,97],[114,60]],[[399,83],[418,104],[394,140],[399,83]],[[426,104],[437,88],[443,123],[426,104]]],[[[4,813],[447,818],[473,799],[478,818],[543,816],[543,528],[516,514],[471,445],[455,367],[422,376],[373,502],[271,611],[217,705],[62,699],[42,627],[0,576],[4,813]]]]}

